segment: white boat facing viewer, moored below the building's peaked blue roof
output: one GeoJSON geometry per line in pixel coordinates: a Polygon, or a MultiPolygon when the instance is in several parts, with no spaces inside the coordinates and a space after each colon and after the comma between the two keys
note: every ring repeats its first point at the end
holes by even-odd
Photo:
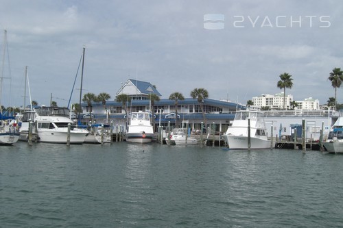
{"type": "Polygon", "coordinates": [[[150,122],[150,112],[132,112],[126,141],[147,143],[154,138],[154,128],[150,122]]]}

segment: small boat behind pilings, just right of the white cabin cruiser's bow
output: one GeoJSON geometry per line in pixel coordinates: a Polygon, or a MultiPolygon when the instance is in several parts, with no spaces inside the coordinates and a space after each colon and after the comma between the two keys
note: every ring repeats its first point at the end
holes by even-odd
{"type": "Polygon", "coordinates": [[[110,125],[95,124],[91,125],[84,143],[109,143],[110,137],[110,125]]]}

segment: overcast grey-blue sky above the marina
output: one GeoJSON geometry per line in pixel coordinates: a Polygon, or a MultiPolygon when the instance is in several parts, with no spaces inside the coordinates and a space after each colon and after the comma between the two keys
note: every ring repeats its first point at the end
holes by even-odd
{"type": "MultiPolygon", "coordinates": [[[[6,107],[23,105],[25,66],[33,100],[49,105],[52,93],[58,105],[67,106],[84,46],[83,93],[107,92],[112,99],[132,78],[149,81],[165,99],[172,92],[190,97],[193,88],[205,88],[211,99],[246,104],[281,92],[276,84],[286,72],[294,79],[286,94],[324,104],[334,97],[329,73],[343,68],[340,0],[0,4],[12,77],[12,99],[3,88],[6,107]],[[222,21],[204,21],[205,14],[222,21]]],[[[80,96],[80,72],[77,80],[72,103],[80,96]]],[[[9,84],[3,79],[3,86],[9,84]]],[[[338,103],[343,103],[342,88],[338,103]]]]}

